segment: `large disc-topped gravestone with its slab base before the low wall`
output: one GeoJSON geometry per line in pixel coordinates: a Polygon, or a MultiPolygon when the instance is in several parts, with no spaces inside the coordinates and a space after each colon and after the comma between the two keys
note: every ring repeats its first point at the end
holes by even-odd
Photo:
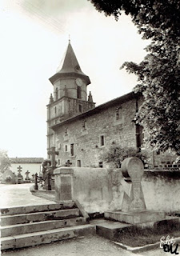
{"type": "Polygon", "coordinates": [[[142,175],[144,166],[139,158],[126,158],[122,162],[122,175],[130,186],[130,193],[124,191],[122,210],[106,212],[105,218],[130,224],[156,222],[166,218],[164,212],[146,210],[146,203],[142,191],[142,175]]]}

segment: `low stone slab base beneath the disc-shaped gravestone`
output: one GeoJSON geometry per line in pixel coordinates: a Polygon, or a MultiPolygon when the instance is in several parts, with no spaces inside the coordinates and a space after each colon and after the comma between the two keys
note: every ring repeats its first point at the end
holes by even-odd
{"type": "Polygon", "coordinates": [[[118,222],[125,222],[130,224],[140,224],[146,222],[160,221],[166,218],[164,212],[143,210],[140,212],[122,212],[121,210],[114,210],[105,212],[104,217],[109,220],[118,222]]]}

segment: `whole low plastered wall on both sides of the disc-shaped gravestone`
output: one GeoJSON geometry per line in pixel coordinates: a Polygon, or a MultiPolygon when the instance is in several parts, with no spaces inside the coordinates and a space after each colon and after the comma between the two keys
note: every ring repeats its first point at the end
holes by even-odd
{"type": "MultiPolygon", "coordinates": [[[[90,167],[70,169],[73,170],[73,199],[78,200],[87,213],[122,209],[124,191],[126,193],[130,191],[131,183],[124,180],[120,169],[90,167]]],[[[142,177],[142,190],[147,210],[180,212],[179,171],[146,170],[142,177]]]]}

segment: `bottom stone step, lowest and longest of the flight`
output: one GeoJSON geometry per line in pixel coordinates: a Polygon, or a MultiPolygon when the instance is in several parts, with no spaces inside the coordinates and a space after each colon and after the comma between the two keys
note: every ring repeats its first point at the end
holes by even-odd
{"type": "Polygon", "coordinates": [[[46,230],[29,234],[18,234],[6,238],[2,238],[2,250],[22,248],[27,246],[35,246],[43,243],[50,243],[63,239],[76,238],[86,234],[95,234],[94,225],[82,225],[74,227],[66,227],[55,230],[46,230]]]}

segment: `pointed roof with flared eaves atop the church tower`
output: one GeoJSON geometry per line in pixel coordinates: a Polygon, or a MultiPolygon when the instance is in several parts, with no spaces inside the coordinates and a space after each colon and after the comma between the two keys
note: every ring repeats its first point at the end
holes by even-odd
{"type": "Polygon", "coordinates": [[[62,65],[58,67],[56,74],[50,78],[50,82],[53,83],[57,78],[69,77],[72,75],[75,75],[77,78],[84,78],[87,85],[90,84],[90,78],[82,72],[69,40],[65,57],[62,60],[62,65]]]}

